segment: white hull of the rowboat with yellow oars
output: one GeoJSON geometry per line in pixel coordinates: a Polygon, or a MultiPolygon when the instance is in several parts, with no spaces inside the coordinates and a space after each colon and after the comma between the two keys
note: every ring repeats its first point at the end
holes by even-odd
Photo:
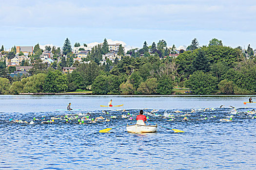
{"type": "Polygon", "coordinates": [[[155,133],[157,132],[157,125],[155,126],[147,126],[147,125],[130,125],[126,126],[127,132],[130,133],[155,133]]]}

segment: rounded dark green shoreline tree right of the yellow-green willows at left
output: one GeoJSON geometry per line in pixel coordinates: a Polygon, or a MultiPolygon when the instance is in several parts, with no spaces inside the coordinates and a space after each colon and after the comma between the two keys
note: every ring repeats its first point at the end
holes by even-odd
{"type": "Polygon", "coordinates": [[[43,85],[44,92],[59,93],[67,90],[67,76],[59,70],[49,71],[43,85]]]}

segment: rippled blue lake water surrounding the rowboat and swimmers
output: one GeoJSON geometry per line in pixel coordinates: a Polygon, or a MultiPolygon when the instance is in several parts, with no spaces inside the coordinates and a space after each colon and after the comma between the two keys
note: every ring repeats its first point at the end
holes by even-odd
{"type": "Polygon", "coordinates": [[[256,108],[256,103],[243,104],[249,97],[256,99],[256,96],[1,95],[0,169],[255,170],[256,118],[253,118],[256,114],[248,111],[256,108]],[[99,106],[107,105],[110,99],[113,105],[124,106],[99,106]],[[71,108],[81,110],[64,111],[69,102],[71,108]],[[219,108],[220,105],[225,106],[219,108]],[[209,109],[203,111],[205,108],[209,109]],[[144,109],[150,121],[185,133],[173,133],[160,126],[153,134],[130,134],[125,126],[112,129],[111,133],[98,133],[101,129],[131,122],[121,115],[133,114],[135,119],[140,109],[144,109]],[[151,114],[152,109],[158,111],[151,114]],[[190,113],[191,109],[196,113],[190,113]],[[57,119],[41,124],[52,117],[87,113],[91,114],[90,119],[99,116],[117,119],[85,121],[87,124],[79,124],[78,119],[70,119],[69,123],[57,119]],[[184,114],[191,116],[186,116],[185,121],[184,114]],[[231,115],[232,122],[220,121],[230,119],[231,115]],[[33,125],[11,123],[14,120],[30,122],[34,117],[39,120],[33,125]]]}

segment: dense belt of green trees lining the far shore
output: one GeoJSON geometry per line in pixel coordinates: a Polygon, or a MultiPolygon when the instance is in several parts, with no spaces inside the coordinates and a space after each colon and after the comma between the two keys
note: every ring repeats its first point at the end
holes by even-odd
{"type": "MultiPolygon", "coordinates": [[[[99,65],[102,54],[108,51],[105,40],[103,47],[92,49],[86,59],[91,61],[89,64],[72,64],[77,67],[72,73],[61,72],[68,65],[65,57],[50,67],[35,59],[30,77],[9,77],[5,61],[1,61],[0,94],[92,90],[103,95],[167,95],[173,94],[175,85],[189,88],[191,94],[256,94],[256,61],[250,45],[243,52],[241,47],[223,46],[214,38],[209,45],[199,47],[195,38],[186,51],[172,57],[169,54],[176,53],[174,45],[168,49],[164,40],[151,46],[145,41],[141,49],[127,51],[130,56],[125,56],[121,47],[120,61],[107,60],[107,64],[99,65]]],[[[69,40],[63,52],[73,56],[69,40]]]]}

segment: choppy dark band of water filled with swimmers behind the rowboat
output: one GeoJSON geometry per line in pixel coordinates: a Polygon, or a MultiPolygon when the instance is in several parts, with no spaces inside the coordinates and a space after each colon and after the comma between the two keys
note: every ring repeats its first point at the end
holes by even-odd
{"type": "MultiPolygon", "coordinates": [[[[40,113],[9,113],[0,114],[1,124],[94,124],[94,123],[119,123],[136,119],[139,110],[115,110],[94,112],[40,112],[40,113]],[[71,114],[73,113],[73,114],[71,114]],[[13,116],[14,115],[14,116],[13,116]]],[[[223,122],[244,121],[256,119],[256,112],[248,108],[193,108],[150,110],[144,109],[144,114],[149,121],[155,122],[223,122]]]]}

